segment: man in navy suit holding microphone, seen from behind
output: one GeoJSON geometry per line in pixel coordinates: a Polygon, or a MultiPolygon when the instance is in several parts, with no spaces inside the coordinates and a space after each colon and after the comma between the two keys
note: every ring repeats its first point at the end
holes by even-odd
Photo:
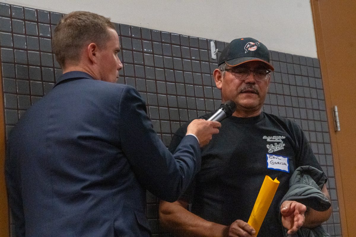
{"type": "Polygon", "coordinates": [[[146,189],[175,201],[199,170],[200,146],[220,123],[193,121],[172,155],[138,92],[115,83],[119,51],[115,27],[103,16],[72,12],[56,27],[53,52],[63,75],[7,143],[18,237],[149,236],[146,189]]]}

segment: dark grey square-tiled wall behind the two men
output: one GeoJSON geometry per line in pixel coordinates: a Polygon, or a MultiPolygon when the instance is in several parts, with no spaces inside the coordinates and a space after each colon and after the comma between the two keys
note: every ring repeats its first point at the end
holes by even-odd
{"type": "MultiPolygon", "coordinates": [[[[6,135],[23,112],[50,91],[62,74],[51,48],[53,29],[62,16],[0,3],[6,135]]],[[[180,125],[220,106],[220,91],[211,77],[217,67],[217,61],[210,58],[211,40],[115,25],[124,64],[119,83],[134,86],[140,92],[164,144],[168,146],[180,125]]],[[[227,43],[214,42],[220,55],[227,43]]],[[[307,135],[329,177],[333,215],[323,226],[331,236],[339,237],[340,216],[319,61],[275,51],[270,55],[276,70],[263,110],[294,120],[307,135]]],[[[153,236],[169,236],[160,230],[157,205],[156,197],[147,193],[147,217],[153,236]]]]}

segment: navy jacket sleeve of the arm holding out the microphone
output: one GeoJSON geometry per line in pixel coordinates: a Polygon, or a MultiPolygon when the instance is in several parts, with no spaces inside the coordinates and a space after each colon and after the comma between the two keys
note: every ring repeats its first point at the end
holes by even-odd
{"type": "Polygon", "coordinates": [[[125,87],[119,102],[122,150],[138,181],[158,198],[175,201],[200,169],[197,139],[184,136],[172,155],[158,138],[138,92],[125,87]]]}

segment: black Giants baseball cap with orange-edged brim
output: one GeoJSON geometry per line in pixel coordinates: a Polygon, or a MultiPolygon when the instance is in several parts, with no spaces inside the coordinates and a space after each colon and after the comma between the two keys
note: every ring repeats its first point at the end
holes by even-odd
{"type": "Polygon", "coordinates": [[[253,38],[239,38],[231,41],[221,52],[218,65],[226,63],[234,67],[248,61],[261,61],[274,71],[273,66],[269,63],[267,47],[253,38]]]}

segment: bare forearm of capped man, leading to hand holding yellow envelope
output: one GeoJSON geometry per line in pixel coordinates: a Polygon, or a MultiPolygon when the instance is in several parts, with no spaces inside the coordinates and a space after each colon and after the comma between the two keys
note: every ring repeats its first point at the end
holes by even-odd
{"type": "Polygon", "coordinates": [[[206,221],[186,209],[186,203],[161,201],[159,219],[166,230],[177,236],[222,237],[226,226],[206,221]]]}

